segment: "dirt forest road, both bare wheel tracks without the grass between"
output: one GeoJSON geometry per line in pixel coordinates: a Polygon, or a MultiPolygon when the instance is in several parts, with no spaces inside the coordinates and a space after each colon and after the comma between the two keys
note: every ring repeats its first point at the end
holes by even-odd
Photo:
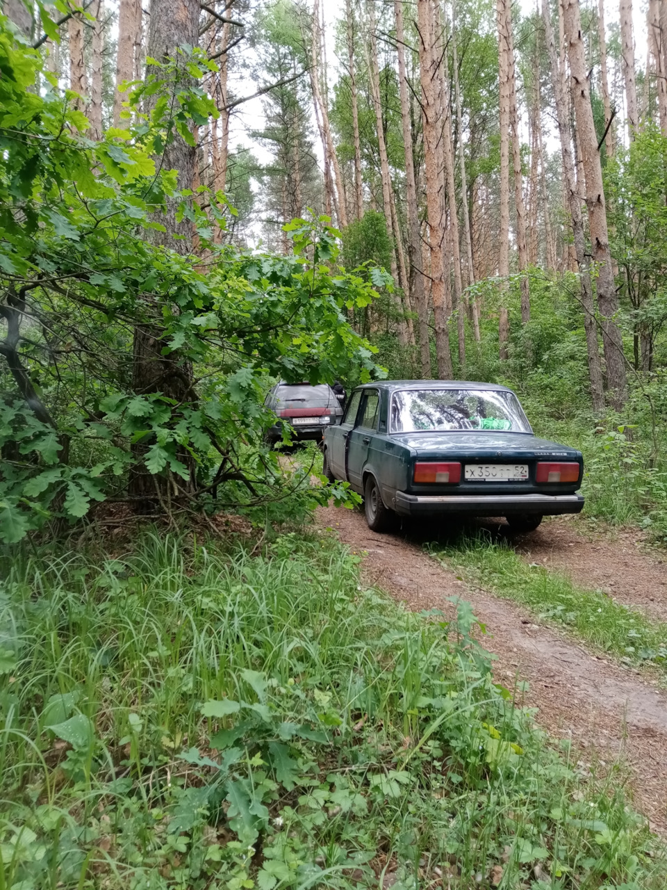
{"type": "MultiPolygon", "coordinates": [[[[414,611],[439,608],[453,614],[448,597],[472,604],[487,626],[483,643],[497,655],[494,673],[512,686],[528,681],[525,703],[557,738],[572,738],[583,763],[628,766],[634,804],[654,829],[667,833],[667,694],[638,672],[586,651],[554,627],[538,624],[520,606],[467,587],[422,548],[433,529],[410,526],[379,535],[364,514],[320,508],[317,522],[332,528],[363,556],[367,584],[377,585],[414,611]]],[[[567,521],[545,523],[518,538],[517,550],[547,568],[566,570],[581,587],[605,588],[620,602],[667,618],[662,563],[640,553],[630,535],[591,540],[567,521]]]]}

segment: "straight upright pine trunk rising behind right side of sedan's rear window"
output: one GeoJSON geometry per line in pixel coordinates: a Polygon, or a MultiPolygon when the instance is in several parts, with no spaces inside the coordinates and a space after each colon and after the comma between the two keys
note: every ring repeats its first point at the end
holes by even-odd
{"type": "Polygon", "coordinates": [[[498,233],[498,275],[500,282],[500,314],[498,339],[500,357],[509,357],[510,317],[507,291],[510,277],[510,57],[507,40],[506,0],[496,0],[498,28],[498,77],[500,93],[500,231],[498,233]]]}

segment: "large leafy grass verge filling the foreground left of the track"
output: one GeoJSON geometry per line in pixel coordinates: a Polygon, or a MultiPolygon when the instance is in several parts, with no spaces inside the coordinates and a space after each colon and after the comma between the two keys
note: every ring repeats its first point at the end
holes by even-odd
{"type": "Polygon", "coordinates": [[[664,886],[470,611],[402,611],[328,538],[154,534],[4,577],[0,888],[664,886]]]}

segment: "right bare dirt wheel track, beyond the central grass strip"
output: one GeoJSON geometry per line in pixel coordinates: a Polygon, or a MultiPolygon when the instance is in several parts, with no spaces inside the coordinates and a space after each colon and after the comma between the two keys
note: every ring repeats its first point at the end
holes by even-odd
{"type": "Polygon", "coordinates": [[[667,566],[637,530],[588,530],[575,517],[559,516],[518,538],[517,552],[545,569],[559,570],[579,587],[602,590],[631,609],[667,620],[667,566]]]}

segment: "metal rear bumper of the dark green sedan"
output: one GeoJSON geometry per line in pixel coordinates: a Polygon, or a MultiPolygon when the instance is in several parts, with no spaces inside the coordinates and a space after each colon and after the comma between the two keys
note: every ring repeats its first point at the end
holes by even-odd
{"type": "Polygon", "coordinates": [[[408,495],[397,491],[390,505],[402,516],[468,513],[475,516],[581,513],[581,495],[408,495]]]}

